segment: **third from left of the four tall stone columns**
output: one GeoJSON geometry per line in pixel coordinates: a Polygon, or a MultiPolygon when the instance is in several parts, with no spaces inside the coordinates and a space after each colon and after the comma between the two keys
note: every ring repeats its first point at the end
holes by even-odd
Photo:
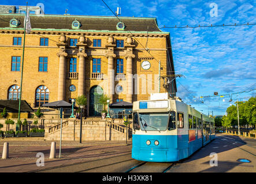
{"type": "Polygon", "coordinates": [[[110,104],[114,102],[114,53],[107,53],[107,89],[110,97],[110,104]]]}

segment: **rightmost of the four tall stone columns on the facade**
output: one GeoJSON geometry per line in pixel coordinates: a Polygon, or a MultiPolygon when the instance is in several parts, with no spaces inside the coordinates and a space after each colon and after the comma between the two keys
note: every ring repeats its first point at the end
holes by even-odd
{"type": "Polygon", "coordinates": [[[126,101],[132,103],[132,94],[133,94],[133,76],[132,76],[132,58],[135,57],[134,54],[130,53],[125,55],[127,58],[126,63],[126,71],[127,71],[127,95],[126,95],[126,101]]]}

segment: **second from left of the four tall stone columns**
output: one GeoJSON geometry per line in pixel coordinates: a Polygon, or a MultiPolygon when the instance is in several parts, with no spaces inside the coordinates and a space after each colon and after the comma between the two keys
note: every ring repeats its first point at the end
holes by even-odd
{"type": "Polygon", "coordinates": [[[85,57],[87,57],[87,53],[84,52],[79,52],[77,54],[77,56],[79,57],[79,76],[78,76],[78,95],[84,95],[84,88],[85,86],[85,70],[86,70],[86,63],[85,63],[85,57]]]}

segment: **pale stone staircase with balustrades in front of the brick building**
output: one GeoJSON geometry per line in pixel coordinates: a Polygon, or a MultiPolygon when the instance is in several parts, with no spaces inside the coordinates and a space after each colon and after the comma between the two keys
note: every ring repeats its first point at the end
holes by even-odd
{"type": "MultiPolygon", "coordinates": [[[[61,124],[45,128],[44,139],[60,140],[60,129],[61,124]]],[[[86,120],[82,120],[82,140],[129,140],[131,137],[131,128],[126,128],[125,125],[115,124],[112,120],[101,120],[101,118],[87,118],[86,120]]],[[[80,120],[64,120],[62,122],[62,140],[79,139],[80,120]]]]}

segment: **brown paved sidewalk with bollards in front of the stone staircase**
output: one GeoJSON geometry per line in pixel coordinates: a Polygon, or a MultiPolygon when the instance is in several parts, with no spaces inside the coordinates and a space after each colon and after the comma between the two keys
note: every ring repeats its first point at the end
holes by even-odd
{"type": "MultiPolygon", "coordinates": [[[[131,154],[132,140],[125,141],[62,141],[61,158],[59,158],[60,141],[56,143],[56,158],[49,159],[52,141],[0,141],[0,172],[34,172],[69,164],[90,163],[124,154],[131,154]],[[3,160],[3,143],[9,143],[9,159],[3,160]],[[44,166],[38,167],[36,154],[43,153],[44,166]]],[[[72,171],[70,171],[72,172],[72,171]]]]}

